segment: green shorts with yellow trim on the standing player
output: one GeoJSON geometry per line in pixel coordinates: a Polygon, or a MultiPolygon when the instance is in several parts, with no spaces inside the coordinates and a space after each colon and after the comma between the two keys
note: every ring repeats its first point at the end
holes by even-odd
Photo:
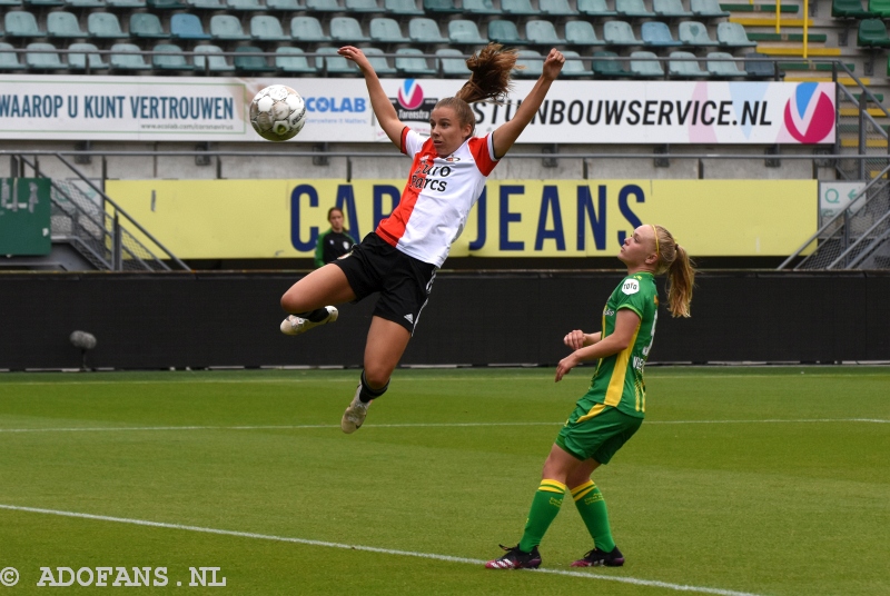
{"type": "Polygon", "coordinates": [[[642,424],[642,418],[612,406],[582,401],[556,436],[556,445],[582,461],[593,458],[609,464],[642,424]]]}

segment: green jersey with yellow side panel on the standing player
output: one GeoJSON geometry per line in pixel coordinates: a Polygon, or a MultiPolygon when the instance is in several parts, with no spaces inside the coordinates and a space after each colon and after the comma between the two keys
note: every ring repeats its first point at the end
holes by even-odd
{"type": "MultiPolygon", "coordinates": [[[[643,418],[646,410],[646,386],[643,381],[643,367],[655,337],[655,322],[659,318],[659,292],[655,276],[649,272],[625,277],[603,309],[602,339],[615,330],[619,310],[627,308],[636,312],[640,322],[630,345],[617,354],[601,358],[591,379],[587,394],[581,398],[595,406],[584,418],[596,416],[606,406],[613,406],[629,416],[643,418]]],[[[578,405],[581,405],[578,401],[578,405]]]]}

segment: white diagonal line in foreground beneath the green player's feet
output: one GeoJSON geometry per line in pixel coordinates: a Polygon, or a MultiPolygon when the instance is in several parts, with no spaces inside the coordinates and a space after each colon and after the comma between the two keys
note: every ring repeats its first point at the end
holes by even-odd
{"type": "MultiPolygon", "coordinates": [[[[362,546],[349,545],[340,543],[328,543],[324,540],[310,540],[307,538],[291,538],[289,536],[274,536],[268,534],[255,534],[251,532],[236,532],[228,529],[205,528],[200,526],[186,526],[181,524],[165,524],[162,522],[148,522],[145,519],[129,519],[126,517],[110,517],[106,515],[81,514],[77,511],[59,511],[56,509],[38,509],[36,507],[20,507],[17,505],[2,505],[0,509],[8,509],[12,511],[27,511],[32,514],[56,515],[61,517],[76,517],[80,519],[93,519],[97,522],[112,522],[117,524],[130,524],[135,526],[148,526],[154,528],[179,529],[187,532],[199,532],[202,534],[217,534],[222,536],[236,536],[238,538],[253,538],[257,540],[273,540],[278,543],[293,543],[307,546],[323,546],[327,548],[343,548],[346,550],[363,550],[365,553],[378,553],[382,555],[395,555],[400,557],[416,557],[434,560],[444,560],[447,563],[463,563],[467,565],[482,566],[485,562],[482,559],[453,557],[449,555],[436,555],[434,553],[415,553],[413,550],[395,550],[392,548],[378,548],[376,546],[362,546]]],[[[637,579],[635,577],[622,577],[612,575],[597,575],[593,573],[582,572],[565,572],[562,569],[536,569],[535,573],[550,574],[550,575],[564,575],[570,577],[583,577],[586,579],[604,579],[606,582],[619,582],[621,584],[633,584],[635,586],[646,586],[655,588],[672,589],[675,592],[694,592],[699,594],[718,594],[721,596],[758,596],[748,592],[735,592],[731,589],[709,588],[700,586],[689,586],[684,584],[671,584],[668,582],[659,582],[655,579],[637,579]]]]}

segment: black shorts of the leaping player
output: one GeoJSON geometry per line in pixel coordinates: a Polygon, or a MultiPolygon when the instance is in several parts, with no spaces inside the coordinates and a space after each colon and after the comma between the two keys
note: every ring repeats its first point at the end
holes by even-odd
{"type": "Polygon", "coordinates": [[[374,232],[333,262],[346,274],[356,302],[379,291],[374,316],[397,322],[414,335],[433,290],[435,265],[405,255],[374,232]]]}

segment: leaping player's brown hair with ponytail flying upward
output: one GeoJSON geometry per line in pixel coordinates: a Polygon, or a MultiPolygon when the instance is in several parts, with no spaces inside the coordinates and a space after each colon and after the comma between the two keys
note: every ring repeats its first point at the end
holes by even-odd
{"type": "MultiPolygon", "coordinates": [[[[472,74],[454,97],[446,97],[436,103],[436,108],[451,108],[457,116],[462,127],[469,125],[476,129],[476,116],[471,103],[476,101],[506,100],[512,89],[510,73],[516,66],[518,54],[515,49],[505,49],[500,43],[488,43],[466,60],[466,68],[472,74]]],[[[435,109],[435,108],[434,108],[435,109]]]]}

